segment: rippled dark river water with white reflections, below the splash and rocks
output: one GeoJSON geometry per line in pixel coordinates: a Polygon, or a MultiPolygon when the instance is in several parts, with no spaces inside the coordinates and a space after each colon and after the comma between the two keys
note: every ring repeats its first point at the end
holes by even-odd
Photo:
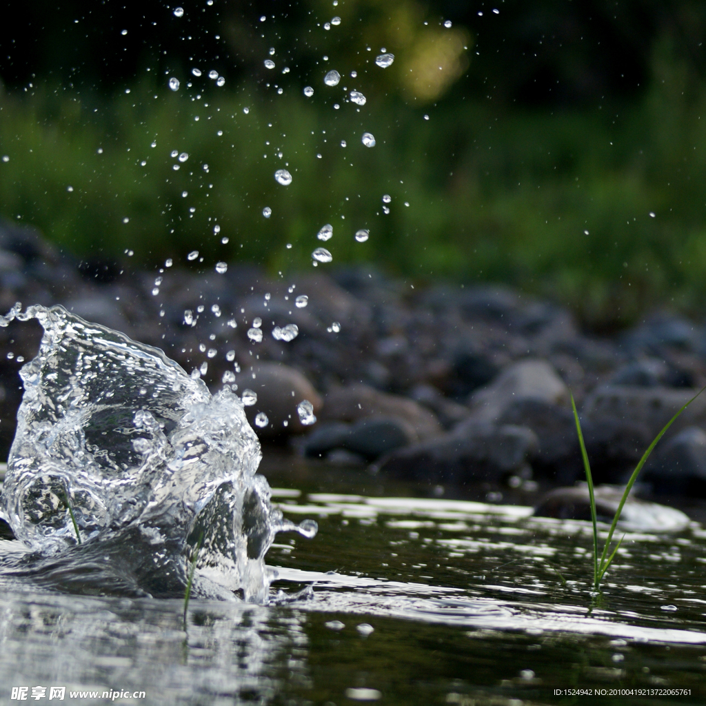
{"type": "Polygon", "coordinates": [[[704,702],[698,522],[628,532],[596,599],[587,522],[266,450],[261,472],[285,517],[319,525],[275,538],[268,604],[191,599],[185,626],[181,599],[0,579],[1,702],[19,686],[72,703],[704,702]]]}

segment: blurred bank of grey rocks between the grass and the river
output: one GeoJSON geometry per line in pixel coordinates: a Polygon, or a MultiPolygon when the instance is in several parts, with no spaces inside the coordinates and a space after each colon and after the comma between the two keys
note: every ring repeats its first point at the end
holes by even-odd
{"type": "MultiPolygon", "coordinates": [[[[268,277],[230,263],[219,273],[198,256],[148,272],[128,254],[78,262],[30,229],[3,225],[0,308],[16,301],[62,304],[161,347],[212,389],[253,390],[249,413],[267,417],[255,426],[265,443],[433,484],[581,479],[569,390],[594,478],[620,484],[706,384],[706,328],[669,311],[599,338],[561,306],[505,287],[420,289],[366,266],[268,277]],[[302,400],[315,424],[301,424],[302,400]]],[[[0,329],[2,455],[18,370],[39,337],[32,323],[0,329]]],[[[658,496],[706,497],[706,395],[674,424],[642,481],[658,496]]]]}

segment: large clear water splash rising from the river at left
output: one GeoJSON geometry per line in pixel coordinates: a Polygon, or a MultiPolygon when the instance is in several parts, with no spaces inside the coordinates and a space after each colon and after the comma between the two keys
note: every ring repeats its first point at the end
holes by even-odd
{"type": "Polygon", "coordinates": [[[196,595],[265,601],[263,557],[275,533],[313,536],[316,523],[297,527],[270,505],[239,397],[227,387],[211,395],[160,349],[61,306],[17,304],[0,325],[13,318],[44,328],[20,371],[0,505],[34,552],[25,569],[35,561],[71,587],[76,575],[94,577],[92,592],[112,582],[118,592],[183,595],[201,544],[196,595]]]}

